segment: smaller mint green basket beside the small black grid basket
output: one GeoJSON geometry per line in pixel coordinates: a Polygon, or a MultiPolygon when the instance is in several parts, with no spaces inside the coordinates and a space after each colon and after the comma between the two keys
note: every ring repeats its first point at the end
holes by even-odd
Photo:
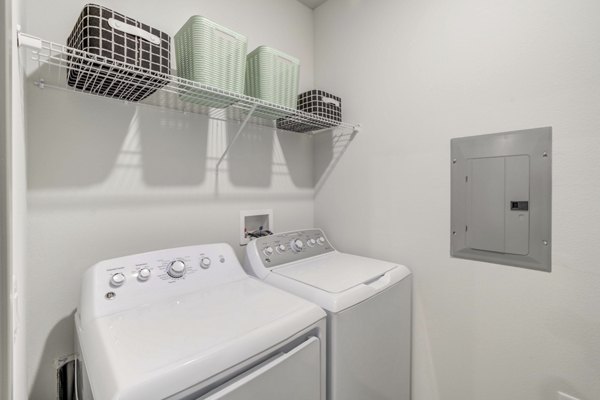
{"type": "MultiPolygon", "coordinates": [[[[298,102],[299,78],[300,60],[295,57],[267,46],[260,46],[248,54],[246,61],[248,96],[295,109],[298,102]]],[[[276,119],[284,115],[287,113],[275,113],[268,117],[276,119]]],[[[265,117],[265,115],[260,116],[265,117]]]]}

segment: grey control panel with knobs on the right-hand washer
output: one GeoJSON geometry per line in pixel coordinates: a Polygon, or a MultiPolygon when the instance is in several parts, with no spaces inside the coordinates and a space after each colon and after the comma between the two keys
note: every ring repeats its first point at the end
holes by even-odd
{"type": "Polygon", "coordinates": [[[335,250],[320,229],[277,233],[255,240],[260,259],[267,268],[335,250]]]}

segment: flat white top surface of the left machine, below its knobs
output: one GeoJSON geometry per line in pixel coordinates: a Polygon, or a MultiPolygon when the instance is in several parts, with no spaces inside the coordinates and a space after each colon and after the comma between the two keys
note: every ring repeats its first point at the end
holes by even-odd
{"type": "Polygon", "coordinates": [[[261,354],[325,317],[316,305],[253,278],[161,299],[81,323],[99,399],[166,398],[261,354]]]}

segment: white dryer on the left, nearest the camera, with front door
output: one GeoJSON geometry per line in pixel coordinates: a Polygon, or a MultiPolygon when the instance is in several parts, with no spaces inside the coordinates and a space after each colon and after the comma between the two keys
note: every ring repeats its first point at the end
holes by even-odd
{"type": "Polygon", "coordinates": [[[325,316],[227,244],[103,261],[75,314],[79,398],[325,400],[325,316]]]}

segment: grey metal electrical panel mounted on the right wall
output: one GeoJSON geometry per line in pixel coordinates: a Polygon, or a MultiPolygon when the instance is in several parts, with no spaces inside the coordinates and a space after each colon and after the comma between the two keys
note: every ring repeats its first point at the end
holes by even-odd
{"type": "Polygon", "coordinates": [[[551,270],[552,128],[452,139],[453,257],[551,270]]]}

